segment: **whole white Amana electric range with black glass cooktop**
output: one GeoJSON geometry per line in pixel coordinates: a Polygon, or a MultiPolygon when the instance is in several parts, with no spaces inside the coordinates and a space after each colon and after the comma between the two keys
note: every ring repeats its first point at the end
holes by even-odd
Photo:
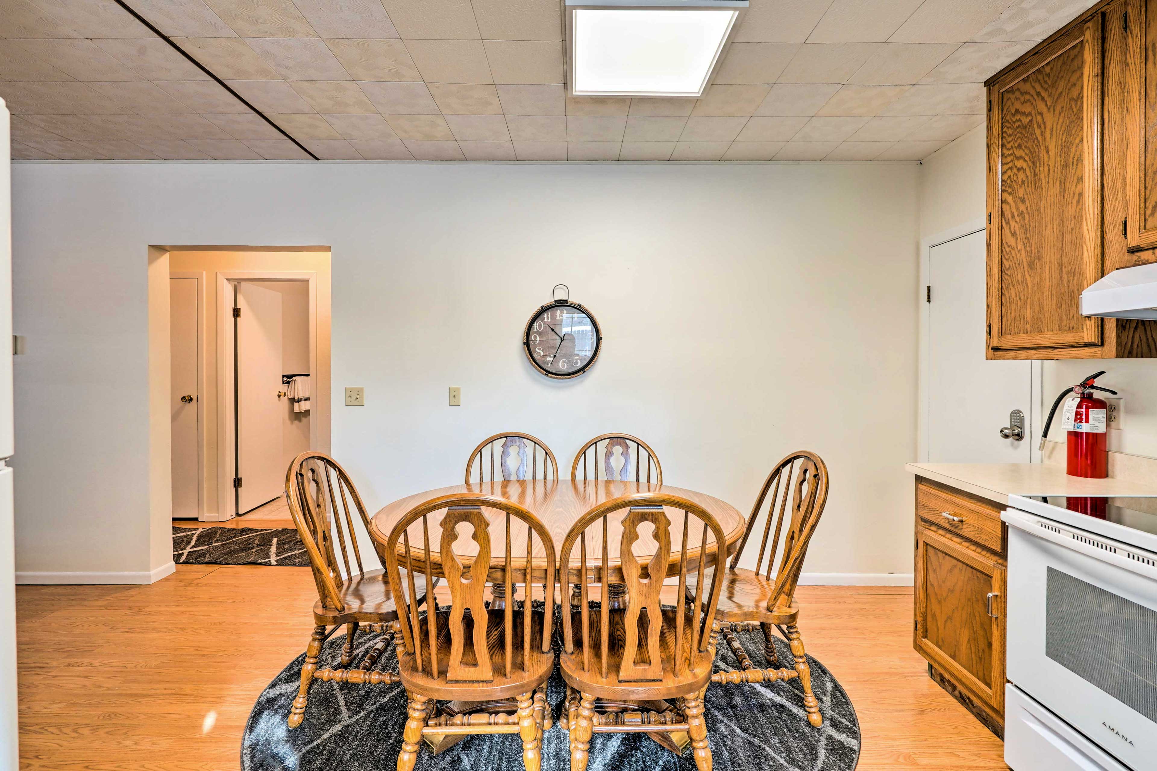
{"type": "Polygon", "coordinates": [[[1009,506],[1004,762],[1157,769],[1157,497],[1009,506]]]}

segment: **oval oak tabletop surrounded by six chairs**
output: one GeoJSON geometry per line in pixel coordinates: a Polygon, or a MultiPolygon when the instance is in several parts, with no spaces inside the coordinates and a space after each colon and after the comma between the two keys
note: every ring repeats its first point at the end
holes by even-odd
{"type": "MultiPolygon", "coordinates": [[[[555,554],[561,549],[562,541],[567,536],[567,532],[570,529],[570,526],[578,521],[578,518],[584,513],[594,509],[596,505],[605,503],[612,498],[633,496],[638,494],[676,496],[679,498],[686,498],[687,501],[702,506],[713,517],[715,517],[720,527],[722,527],[723,532],[727,534],[727,555],[724,555],[724,559],[727,556],[730,556],[732,551],[735,551],[735,547],[739,542],[739,539],[743,538],[743,531],[746,526],[743,514],[740,514],[735,506],[713,496],[695,492],[694,490],[672,487],[670,484],[648,484],[647,482],[609,482],[605,480],[535,480],[452,484],[450,487],[427,490],[425,492],[407,496],[382,507],[376,514],[374,514],[370,520],[370,535],[375,541],[384,547],[393,526],[415,506],[444,495],[463,492],[506,498],[529,510],[543,521],[546,529],[551,533],[551,538],[554,541],[555,554]]],[[[491,562],[494,563],[506,555],[506,514],[501,511],[486,507],[482,509],[482,512],[491,522],[491,562]]],[[[432,542],[436,543],[441,540],[441,536],[439,536],[437,533],[441,532],[440,522],[444,510],[430,514],[428,518],[428,526],[430,529],[429,538],[432,542]]],[[[666,513],[671,520],[670,533],[672,547],[671,558],[668,563],[668,574],[672,576],[678,573],[679,548],[677,544],[683,542],[684,518],[683,511],[676,506],[666,506],[666,513]]],[[[526,527],[517,520],[511,521],[510,551],[513,553],[513,556],[510,562],[513,568],[522,570],[526,555],[526,527]]],[[[415,561],[414,566],[425,568],[426,555],[422,549],[423,536],[421,519],[411,524],[406,531],[410,536],[411,556],[415,561]]],[[[653,538],[650,538],[650,532],[640,531],[640,536],[641,538],[635,542],[635,554],[639,557],[646,557],[654,554],[654,549],[657,543],[653,538]],[[648,549],[650,549],[650,551],[648,551],[648,549]]],[[[619,574],[619,543],[621,538],[621,518],[607,518],[606,556],[609,566],[611,568],[612,580],[619,574]]],[[[699,565],[701,539],[702,525],[699,520],[692,517],[690,532],[687,533],[688,570],[694,570],[699,565]]],[[[706,566],[709,568],[716,562],[717,548],[710,539],[708,539],[708,541],[706,566]]],[[[476,553],[477,547],[478,544],[469,538],[469,535],[464,535],[456,541],[455,554],[459,555],[459,557],[469,556],[476,553]]],[[[399,558],[404,557],[404,548],[401,547],[400,541],[398,543],[398,556],[399,558]]],[[[587,556],[589,566],[595,569],[596,574],[594,578],[597,580],[597,568],[602,563],[602,528],[597,524],[591,525],[587,531],[587,556]]],[[[533,572],[537,573],[539,564],[544,564],[539,562],[544,557],[545,550],[543,549],[541,543],[539,543],[539,539],[536,538],[531,549],[533,572]]],[[[441,574],[441,558],[436,549],[432,555],[430,566],[434,572],[441,574]]],[[[577,547],[575,547],[573,554],[570,555],[570,569],[574,571],[573,579],[577,580],[578,572],[581,572],[577,547]]]]}

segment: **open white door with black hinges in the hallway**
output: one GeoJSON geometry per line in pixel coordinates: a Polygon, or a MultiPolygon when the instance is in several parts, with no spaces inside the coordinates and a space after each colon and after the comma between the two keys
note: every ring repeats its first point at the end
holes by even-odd
{"type": "Polygon", "coordinates": [[[237,513],[281,495],[283,402],[281,384],[281,295],[237,283],[237,513]]]}

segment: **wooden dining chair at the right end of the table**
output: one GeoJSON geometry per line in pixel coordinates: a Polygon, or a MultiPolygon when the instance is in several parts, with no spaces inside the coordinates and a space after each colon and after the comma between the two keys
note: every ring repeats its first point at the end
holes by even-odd
{"type": "Polygon", "coordinates": [[[758,683],[798,677],[803,687],[808,722],[817,728],[824,725],[824,718],[811,690],[811,667],[808,666],[803,638],[799,636],[799,607],[795,603],[795,591],[808,554],[808,542],[816,532],[826,503],[827,466],[819,455],[798,451],[776,464],[764,480],[751,517],[747,518],[747,528],[731,557],[717,610],[721,633],[738,659],[740,669],[718,673],[715,682],[758,683]],[[740,568],[744,547],[747,546],[765,503],[767,513],[754,570],[740,568]],[[774,569],[776,555],[779,568],[774,569]],[[764,632],[764,654],[772,667],[768,669],[757,668],[735,636],[737,631],[753,629],[757,623],[764,632]],[[776,629],[791,647],[791,657],[795,659],[795,667],[791,669],[779,667],[774,642],[776,629]]]}

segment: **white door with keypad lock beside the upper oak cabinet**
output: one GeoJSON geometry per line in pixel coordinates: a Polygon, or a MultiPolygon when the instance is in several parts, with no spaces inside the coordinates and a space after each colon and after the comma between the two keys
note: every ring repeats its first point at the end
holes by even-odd
{"type": "Polygon", "coordinates": [[[985,231],[929,254],[928,458],[934,464],[1031,461],[1032,363],[985,359],[985,231]],[[1025,437],[1005,439],[1009,413],[1025,437]]]}

